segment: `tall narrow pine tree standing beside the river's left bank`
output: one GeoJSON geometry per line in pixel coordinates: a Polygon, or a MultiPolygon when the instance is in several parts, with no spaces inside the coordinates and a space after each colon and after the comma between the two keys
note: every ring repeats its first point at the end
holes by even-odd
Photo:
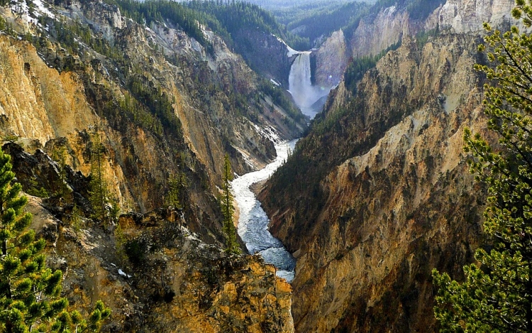
{"type": "Polygon", "coordinates": [[[233,173],[231,171],[231,161],[229,155],[223,158],[223,196],[221,198],[221,209],[223,213],[223,234],[226,235],[226,252],[229,254],[239,254],[240,248],[236,240],[236,229],[233,222],[233,194],[231,193],[231,180],[233,173]]]}

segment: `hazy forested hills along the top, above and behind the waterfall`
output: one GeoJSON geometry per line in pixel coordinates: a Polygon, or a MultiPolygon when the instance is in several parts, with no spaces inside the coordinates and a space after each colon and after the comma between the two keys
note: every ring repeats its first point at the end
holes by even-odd
{"type": "Polygon", "coordinates": [[[272,33],[296,50],[308,50],[339,29],[350,39],[360,19],[370,18],[389,6],[406,8],[411,18],[423,20],[443,4],[443,0],[379,0],[372,6],[362,1],[314,1],[292,6],[270,5],[270,12],[247,1],[107,1],[117,4],[126,16],[140,24],[149,26],[154,21],[176,24],[209,52],[212,52],[211,43],[199,24],[223,37],[231,47],[238,46],[233,40],[235,33],[253,29],[272,33]]]}

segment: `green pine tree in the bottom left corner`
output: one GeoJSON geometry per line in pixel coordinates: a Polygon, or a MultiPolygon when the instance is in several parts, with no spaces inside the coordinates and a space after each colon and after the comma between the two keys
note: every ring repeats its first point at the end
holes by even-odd
{"type": "Polygon", "coordinates": [[[31,214],[23,212],[28,198],[20,195],[18,182],[12,184],[10,159],[0,149],[0,331],[97,332],[109,309],[97,302],[88,321],[67,312],[68,301],[59,297],[62,272],[46,266],[45,240],[28,230],[31,214]]]}

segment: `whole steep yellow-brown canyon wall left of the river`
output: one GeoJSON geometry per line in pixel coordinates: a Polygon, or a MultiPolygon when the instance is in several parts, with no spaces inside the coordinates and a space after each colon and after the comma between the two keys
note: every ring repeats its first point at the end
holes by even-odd
{"type": "Polygon", "coordinates": [[[304,121],[212,31],[207,50],[102,1],[31,4],[0,6],[0,136],[23,189],[43,197],[28,210],[70,305],[103,299],[104,332],[293,332],[290,285],[222,251],[216,195],[225,153],[236,173],[258,168],[304,121]],[[106,219],[89,200],[95,152],[106,219]]]}

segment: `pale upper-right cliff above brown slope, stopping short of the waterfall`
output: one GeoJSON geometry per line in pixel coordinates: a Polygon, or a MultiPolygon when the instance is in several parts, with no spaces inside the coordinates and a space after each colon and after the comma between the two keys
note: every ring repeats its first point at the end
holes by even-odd
{"type": "Polygon", "coordinates": [[[439,29],[452,33],[482,30],[482,22],[503,23],[511,18],[512,0],[401,0],[377,1],[348,35],[354,58],[377,55],[400,43],[402,36],[439,29]]]}

